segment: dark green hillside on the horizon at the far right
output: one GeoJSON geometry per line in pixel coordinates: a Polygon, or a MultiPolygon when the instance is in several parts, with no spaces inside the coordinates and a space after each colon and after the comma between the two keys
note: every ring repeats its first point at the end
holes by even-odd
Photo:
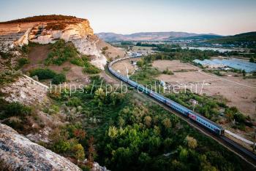
{"type": "Polygon", "coordinates": [[[208,40],[209,43],[214,44],[235,44],[237,42],[256,41],[256,31],[248,33],[240,33],[234,36],[225,36],[218,39],[208,40]]]}

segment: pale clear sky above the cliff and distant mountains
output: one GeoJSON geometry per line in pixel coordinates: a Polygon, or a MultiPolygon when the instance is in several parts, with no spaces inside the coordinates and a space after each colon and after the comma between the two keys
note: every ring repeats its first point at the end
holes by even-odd
{"type": "Polygon", "coordinates": [[[94,33],[256,31],[256,0],[0,0],[0,21],[50,14],[86,18],[94,33]]]}

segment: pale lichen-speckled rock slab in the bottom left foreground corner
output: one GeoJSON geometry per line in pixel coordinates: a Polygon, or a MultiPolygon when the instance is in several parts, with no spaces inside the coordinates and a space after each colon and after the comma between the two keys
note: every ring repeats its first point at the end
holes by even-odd
{"type": "Polygon", "coordinates": [[[59,154],[0,124],[0,170],[80,170],[59,154]]]}

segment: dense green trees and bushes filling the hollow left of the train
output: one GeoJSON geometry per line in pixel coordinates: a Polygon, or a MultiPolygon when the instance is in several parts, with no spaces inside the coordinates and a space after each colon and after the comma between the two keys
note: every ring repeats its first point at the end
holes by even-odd
{"type": "Polygon", "coordinates": [[[44,146],[72,159],[95,159],[110,170],[241,170],[236,156],[177,116],[132,92],[106,94],[97,76],[91,81],[94,86],[84,92],[50,95],[75,110],[44,146]]]}

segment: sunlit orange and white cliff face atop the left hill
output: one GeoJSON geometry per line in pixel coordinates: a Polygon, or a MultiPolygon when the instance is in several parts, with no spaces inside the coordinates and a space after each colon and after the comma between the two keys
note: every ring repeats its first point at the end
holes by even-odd
{"type": "Polygon", "coordinates": [[[50,20],[44,22],[0,23],[0,49],[9,50],[21,47],[29,41],[48,44],[57,39],[72,41],[83,55],[92,57],[91,63],[104,70],[107,58],[97,48],[99,38],[89,25],[89,20],[72,18],[69,20],[50,20]]]}

